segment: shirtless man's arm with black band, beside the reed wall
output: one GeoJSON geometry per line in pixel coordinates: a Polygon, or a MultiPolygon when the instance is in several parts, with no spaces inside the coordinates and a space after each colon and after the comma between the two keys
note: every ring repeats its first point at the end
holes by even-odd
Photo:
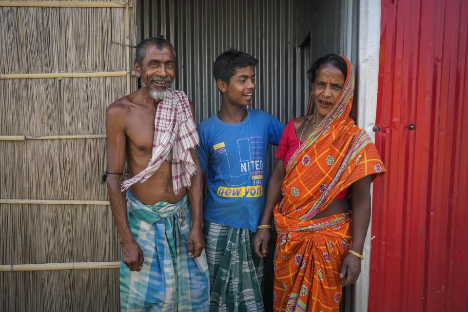
{"type": "MultiPolygon", "coordinates": [[[[125,117],[125,109],[119,103],[114,103],[107,109],[107,171],[111,173],[123,173],[126,145],[125,117]]],[[[130,271],[140,271],[140,267],[143,266],[143,252],[130,231],[125,193],[120,191],[121,182],[122,175],[108,175],[107,192],[122,245],[122,261],[130,271]]]]}

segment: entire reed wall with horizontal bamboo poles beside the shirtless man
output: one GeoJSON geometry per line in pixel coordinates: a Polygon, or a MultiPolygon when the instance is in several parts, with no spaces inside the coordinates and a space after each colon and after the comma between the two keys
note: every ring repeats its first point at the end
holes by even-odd
{"type": "Polygon", "coordinates": [[[134,25],[131,2],[0,1],[0,311],[118,310],[99,176],[134,25]]]}

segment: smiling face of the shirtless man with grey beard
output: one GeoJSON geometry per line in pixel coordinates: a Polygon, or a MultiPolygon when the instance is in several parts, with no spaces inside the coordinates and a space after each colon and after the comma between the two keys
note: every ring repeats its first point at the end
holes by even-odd
{"type": "Polygon", "coordinates": [[[159,50],[155,44],[148,45],[141,65],[135,64],[135,73],[152,98],[163,99],[176,76],[176,60],[171,48],[164,46],[159,50]]]}

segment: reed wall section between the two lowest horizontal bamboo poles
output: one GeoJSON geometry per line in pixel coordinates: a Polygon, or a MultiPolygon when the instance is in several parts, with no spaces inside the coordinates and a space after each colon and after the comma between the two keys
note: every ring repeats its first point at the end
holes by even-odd
{"type": "Polygon", "coordinates": [[[0,218],[1,264],[119,260],[109,206],[2,205],[0,218]]]}

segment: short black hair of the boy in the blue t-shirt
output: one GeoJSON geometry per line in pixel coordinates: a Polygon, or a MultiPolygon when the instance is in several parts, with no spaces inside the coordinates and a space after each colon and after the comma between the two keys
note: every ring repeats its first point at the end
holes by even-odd
{"type": "Polygon", "coordinates": [[[234,76],[236,68],[255,67],[257,64],[258,59],[250,54],[231,49],[216,58],[215,64],[213,64],[213,76],[215,76],[216,81],[221,79],[229,84],[229,80],[234,76]]]}

